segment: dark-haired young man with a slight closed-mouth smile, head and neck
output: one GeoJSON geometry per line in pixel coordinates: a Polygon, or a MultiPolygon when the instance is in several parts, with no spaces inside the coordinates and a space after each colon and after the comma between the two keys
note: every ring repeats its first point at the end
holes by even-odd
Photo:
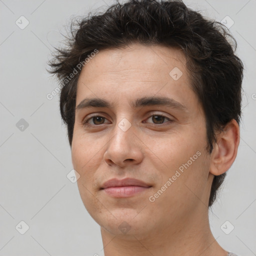
{"type": "Polygon", "coordinates": [[[72,32],[51,72],[104,255],[235,255],[208,222],[239,144],[233,38],[179,0],[117,3],[72,32]]]}

